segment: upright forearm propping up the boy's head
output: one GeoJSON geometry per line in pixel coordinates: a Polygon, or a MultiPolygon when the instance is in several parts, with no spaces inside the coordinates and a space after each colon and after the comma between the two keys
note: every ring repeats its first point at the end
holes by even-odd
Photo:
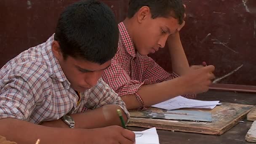
{"type": "Polygon", "coordinates": [[[189,69],[189,63],[181,44],[179,32],[168,37],[167,45],[171,56],[173,72],[180,76],[184,75],[189,69]]]}

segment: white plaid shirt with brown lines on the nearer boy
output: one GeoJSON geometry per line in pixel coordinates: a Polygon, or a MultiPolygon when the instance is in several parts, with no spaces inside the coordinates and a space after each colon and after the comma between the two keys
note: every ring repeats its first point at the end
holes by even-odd
{"type": "Polygon", "coordinates": [[[107,104],[117,104],[127,117],[125,103],[103,80],[78,96],[53,56],[53,35],[29,48],[0,69],[0,118],[17,118],[35,124],[58,120],[107,104]]]}

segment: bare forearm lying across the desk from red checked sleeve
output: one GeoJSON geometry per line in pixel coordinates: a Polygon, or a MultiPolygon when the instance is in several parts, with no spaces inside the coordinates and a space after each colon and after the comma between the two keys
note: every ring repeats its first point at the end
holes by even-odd
{"type": "MultiPolygon", "coordinates": [[[[187,94],[185,90],[183,78],[177,77],[172,80],[163,81],[162,83],[142,85],[137,93],[141,96],[141,99],[143,99],[144,107],[149,107],[175,96],[187,94]]],[[[134,94],[122,96],[121,98],[125,102],[127,109],[141,107],[141,104],[134,94]]]]}

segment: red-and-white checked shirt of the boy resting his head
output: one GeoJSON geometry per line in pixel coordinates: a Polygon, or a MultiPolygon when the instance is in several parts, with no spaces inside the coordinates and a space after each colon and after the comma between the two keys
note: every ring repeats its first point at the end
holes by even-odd
{"type": "MultiPolygon", "coordinates": [[[[141,106],[144,106],[143,99],[137,93],[141,85],[160,83],[179,75],[166,72],[149,56],[136,53],[123,22],[120,22],[118,27],[120,34],[117,54],[102,78],[119,96],[135,94],[141,106]]],[[[184,97],[192,99],[195,95],[184,95],[184,97]]]]}

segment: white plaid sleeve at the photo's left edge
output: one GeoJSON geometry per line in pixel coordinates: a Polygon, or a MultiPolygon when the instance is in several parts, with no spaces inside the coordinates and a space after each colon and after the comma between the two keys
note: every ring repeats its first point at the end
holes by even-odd
{"type": "Polygon", "coordinates": [[[16,66],[0,80],[0,119],[17,118],[28,121],[40,93],[44,70],[38,63],[27,63],[16,66]],[[32,73],[33,70],[42,72],[32,73]],[[40,78],[39,78],[40,76],[40,78]]]}

